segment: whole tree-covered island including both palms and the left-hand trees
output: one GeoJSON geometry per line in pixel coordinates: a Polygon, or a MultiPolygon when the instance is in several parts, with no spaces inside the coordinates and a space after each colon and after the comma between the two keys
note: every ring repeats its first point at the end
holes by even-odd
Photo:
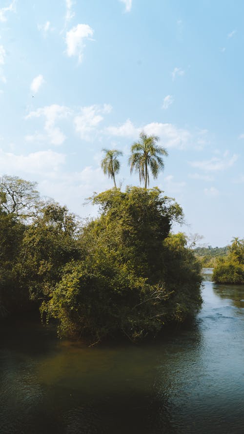
{"type": "Polygon", "coordinates": [[[159,188],[166,150],[140,135],[130,169],[144,187],[117,188],[118,150],[104,149],[102,169],[114,187],[91,198],[99,216],[85,223],[36,184],[0,179],[0,317],[39,309],[60,336],[91,343],[118,333],[135,341],[200,309],[201,265],[183,233],[183,210],[159,188]]]}

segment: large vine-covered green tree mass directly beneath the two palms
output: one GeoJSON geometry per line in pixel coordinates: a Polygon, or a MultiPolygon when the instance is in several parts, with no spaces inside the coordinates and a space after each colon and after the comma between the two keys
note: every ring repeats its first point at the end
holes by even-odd
{"type": "Polygon", "coordinates": [[[66,264],[41,307],[59,333],[97,342],[121,332],[134,341],[194,314],[200,265],[183,235],[170,236],[182,208],[158,188],[113,188],[93,202],[101,215],[82,230],[82,258],[66,264]]]}

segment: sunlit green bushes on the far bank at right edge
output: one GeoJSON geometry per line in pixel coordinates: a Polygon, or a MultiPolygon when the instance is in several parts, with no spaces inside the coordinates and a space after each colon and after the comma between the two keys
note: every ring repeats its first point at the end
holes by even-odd
{"type": "Polygon", "coordinates": [[[217,260],[213,280],[216,283],[244,284],[244,239],[234,238],[227,256],[217,260]]]}

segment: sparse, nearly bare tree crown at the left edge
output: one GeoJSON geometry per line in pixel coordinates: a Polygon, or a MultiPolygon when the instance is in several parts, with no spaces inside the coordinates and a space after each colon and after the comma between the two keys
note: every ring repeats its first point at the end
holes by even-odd
{"type": "Polygon", "coordinates": [[[0,178],[1,208],[20,220],[33,217],[43,205],[36,186],[37,183],[25,181],[17,176],[2,176],[0,178]]]}

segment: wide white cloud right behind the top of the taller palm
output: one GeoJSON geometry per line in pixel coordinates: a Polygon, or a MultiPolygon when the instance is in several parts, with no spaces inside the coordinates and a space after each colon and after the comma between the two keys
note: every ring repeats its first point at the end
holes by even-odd
{"type": "Polygon", "coordinates": [[[159,122],[152,122],[140,127],[135,127],[134,124],[127,119],[127,121],[120,126],[109,126],[104,129],[106,134],[131,137],[132,139],[138,139],[141,131],[149,135],[155,134],[159,136],[163,145],[168,148],[184,149],[191,139],[189,131],[177,128],[173,124],[162,124],[159,122]]]}

